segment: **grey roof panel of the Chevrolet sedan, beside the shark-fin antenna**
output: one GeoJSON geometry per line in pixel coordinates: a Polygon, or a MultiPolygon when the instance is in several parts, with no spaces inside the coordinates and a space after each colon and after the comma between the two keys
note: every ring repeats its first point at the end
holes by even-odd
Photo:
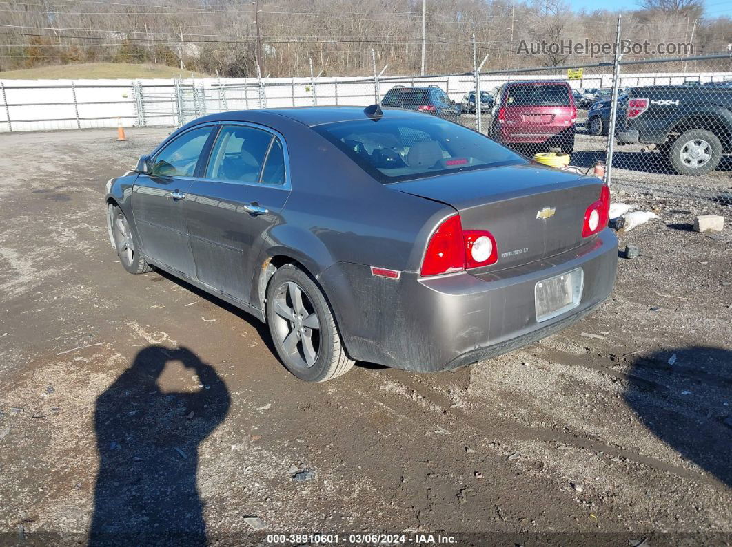
{"type": "MultiPolygon", "coordinates": [[[[340,121],[368,120],[365,107],[283,107],[263,108],[257,110],[235,110],[206,116],[206,121],[250,121],[250,113],[256,112],[261,120],[262,115],[283,116],[313,127],[324,123],[340,121]]],[[[412,112],[400,108],[381,107],[384,118],[424,118],[422,112],[412,112]]]]}

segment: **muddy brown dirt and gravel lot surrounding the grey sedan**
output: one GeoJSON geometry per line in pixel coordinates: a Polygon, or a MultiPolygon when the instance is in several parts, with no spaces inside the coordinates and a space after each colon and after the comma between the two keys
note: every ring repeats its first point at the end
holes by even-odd
{"type": "Polygon", "coordinates": [[[310,385],[255,319],[117,261],[105,182],[167,132],[0,136],[0,543],[732,542],[732,207],[620,186],[661,220],[620,236],[643,254],[589,318],[456,372],[310,385]]]}

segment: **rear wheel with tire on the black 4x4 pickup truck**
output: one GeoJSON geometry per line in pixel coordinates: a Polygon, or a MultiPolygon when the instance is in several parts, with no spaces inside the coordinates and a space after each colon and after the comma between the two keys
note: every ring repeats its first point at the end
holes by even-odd
{"type": "Polygon", "coordinates": [[[720,164],[722,143],[711,131],[690,129],[673,142],[668,149],[668,159],[679,175],[706,175],[720,164]]]}

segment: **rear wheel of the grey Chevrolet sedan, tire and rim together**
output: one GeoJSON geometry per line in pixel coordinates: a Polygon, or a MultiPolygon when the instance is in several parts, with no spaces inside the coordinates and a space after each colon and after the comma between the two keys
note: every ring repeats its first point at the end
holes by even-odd
{"type": "Polygon", "coordinates": [[[269,280],[266,317],[280,361],[300,380],[325,382],[354,366],[323,291],[293,264],[269,280]]]}

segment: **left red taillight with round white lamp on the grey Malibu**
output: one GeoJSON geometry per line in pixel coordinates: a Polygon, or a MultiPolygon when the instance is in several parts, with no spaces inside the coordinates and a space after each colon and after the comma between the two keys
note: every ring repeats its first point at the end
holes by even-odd
{"type": "Polygon", "coordinates": [[[487,230],[463,232],[460,215],[453,215],[441,223],[430,237],[420,273],[462,272],[467,268],[489,266],[496,261],[498,248],[493,234],[487,230]]]}

